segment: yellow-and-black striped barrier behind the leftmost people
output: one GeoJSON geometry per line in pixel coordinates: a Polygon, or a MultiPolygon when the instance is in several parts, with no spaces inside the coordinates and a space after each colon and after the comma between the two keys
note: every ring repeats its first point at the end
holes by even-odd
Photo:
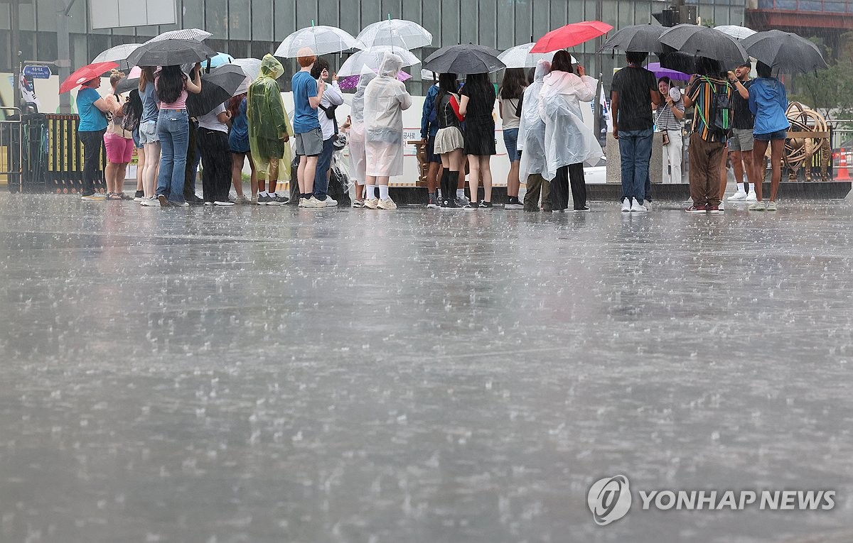
{"type": "MultiPolygon", "coordinates": [[[[48,114],[47,122],[47,171],[45,179],[48,190],[56,194],[71,194],[83,191],[83,142],[77,133],[80,123],[78,115],[48,114]]],[[[100,166],[97,169],[95,190],[103,192],[103,179],[107,165],[106,152],[101,143],[100,166]]]]}

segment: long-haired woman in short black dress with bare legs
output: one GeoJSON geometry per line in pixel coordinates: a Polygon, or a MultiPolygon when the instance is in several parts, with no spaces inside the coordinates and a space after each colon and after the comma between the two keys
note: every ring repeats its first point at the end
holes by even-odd
{"type": "Polygon", "coordinates": [[[495,86],[488,73],[471,73],[461,91],[459,113],[465,117],[465,154],[468,156],[468,189],[471,203],[463,209],[491,209],[490,160],[495,151],[495,86]],[[477,203],[477,187],[483,181],[483,200],[477,203]]]}

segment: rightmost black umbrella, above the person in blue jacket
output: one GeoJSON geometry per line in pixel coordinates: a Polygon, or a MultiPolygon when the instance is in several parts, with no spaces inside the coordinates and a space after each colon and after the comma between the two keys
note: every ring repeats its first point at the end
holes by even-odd
{"type": "Polygon", "coordinates": [[[823,60],[821,50],[814,43],[791,32],[757,32],[741,43],[751,57],[783,73],[809,73],[827,69],[827,61],[823,60]]]}

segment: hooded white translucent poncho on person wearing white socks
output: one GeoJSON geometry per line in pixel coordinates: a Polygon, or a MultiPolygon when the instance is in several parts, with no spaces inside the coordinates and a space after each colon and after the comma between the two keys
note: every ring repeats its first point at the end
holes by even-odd
{"type": "Polygon", "coordinates": [[[391,176],[403,174],[403,110],[412,105],[412,97],[397,72],[403,59],[386,53],[379,75],[364,90],[364,148],[368,161],[366,174],[391,176]]]}

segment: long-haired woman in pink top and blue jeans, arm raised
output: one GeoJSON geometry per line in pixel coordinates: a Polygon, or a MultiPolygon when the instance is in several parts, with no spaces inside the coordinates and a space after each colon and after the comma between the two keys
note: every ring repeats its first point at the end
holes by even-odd
{"type": "Polygon", "coordinates": [[[157,137],[160,140],[160,172],[157,176],[157,199],[160,206],[186,207],[183,181],[189,146],[188,93],[201,92],[201,64],[193,68],[190,80],[181,66],[163,66],[154,78],[154,88],[160,97],[160,117],[157,119],[157,137]]]}

